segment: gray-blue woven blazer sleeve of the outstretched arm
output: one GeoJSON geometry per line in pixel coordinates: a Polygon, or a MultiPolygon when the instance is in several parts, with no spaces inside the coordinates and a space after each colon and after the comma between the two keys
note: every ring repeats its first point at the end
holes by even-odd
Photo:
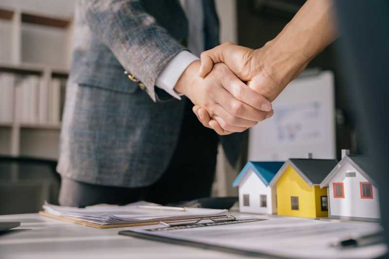
{"type": "Polygon", "coordinates": [[[144,10],[139,0],[83,0],[80,6],[92,33],[141,81],[155,102],[157,77],[185,47],[144,10]]]}

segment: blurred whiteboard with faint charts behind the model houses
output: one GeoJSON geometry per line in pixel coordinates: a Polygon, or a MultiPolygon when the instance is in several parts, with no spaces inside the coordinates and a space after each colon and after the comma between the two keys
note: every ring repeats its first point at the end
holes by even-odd
{"type": "Polygon", "coordinates": [[[248,159],[336,158],[334,74],[301,76],[273,102],[272,118],[249,130],[248,159]]]}

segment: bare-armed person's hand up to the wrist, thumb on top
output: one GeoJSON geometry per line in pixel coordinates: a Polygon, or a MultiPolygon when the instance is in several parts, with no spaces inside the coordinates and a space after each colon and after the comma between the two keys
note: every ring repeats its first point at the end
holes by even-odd
{"type": "Polygon", "coordinates": [[[306,65],[292,67],[294,62],[289,61],[294,57],[278,58],[279,55],[272,54],[272,46],[270,41],[261,49],[253,50],[231,42],[223,43],[201,53],[199,76],[206,76],[214,63],[225,63],[251,89],[273,101],[306,65]]]}

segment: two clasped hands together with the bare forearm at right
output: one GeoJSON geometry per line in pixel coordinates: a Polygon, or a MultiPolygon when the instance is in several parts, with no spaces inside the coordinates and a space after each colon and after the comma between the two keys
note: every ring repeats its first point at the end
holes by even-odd
{"type": "Polygon", "coordinates": [[[279,35],[253,50],[230,42],[201,53],[175,90],[204,126],[242,132],[273,115],[271,102],[337,37],[333,1],[307,0],[279,35]]]}

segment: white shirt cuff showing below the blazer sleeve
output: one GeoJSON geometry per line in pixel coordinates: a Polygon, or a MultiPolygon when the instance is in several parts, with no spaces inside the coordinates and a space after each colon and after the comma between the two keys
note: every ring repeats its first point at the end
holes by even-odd
{"type": "Polygon", "coordinates": [[[199,58],[189,51],[179,52],[159,74],[155,85],[165,90],[171,96],[181,100],[180,95],[182,94],[178,94],[174,90],[174,86],[176,86],[179,77],[185,69],[196,60],[199,60],[199,58]]]}

